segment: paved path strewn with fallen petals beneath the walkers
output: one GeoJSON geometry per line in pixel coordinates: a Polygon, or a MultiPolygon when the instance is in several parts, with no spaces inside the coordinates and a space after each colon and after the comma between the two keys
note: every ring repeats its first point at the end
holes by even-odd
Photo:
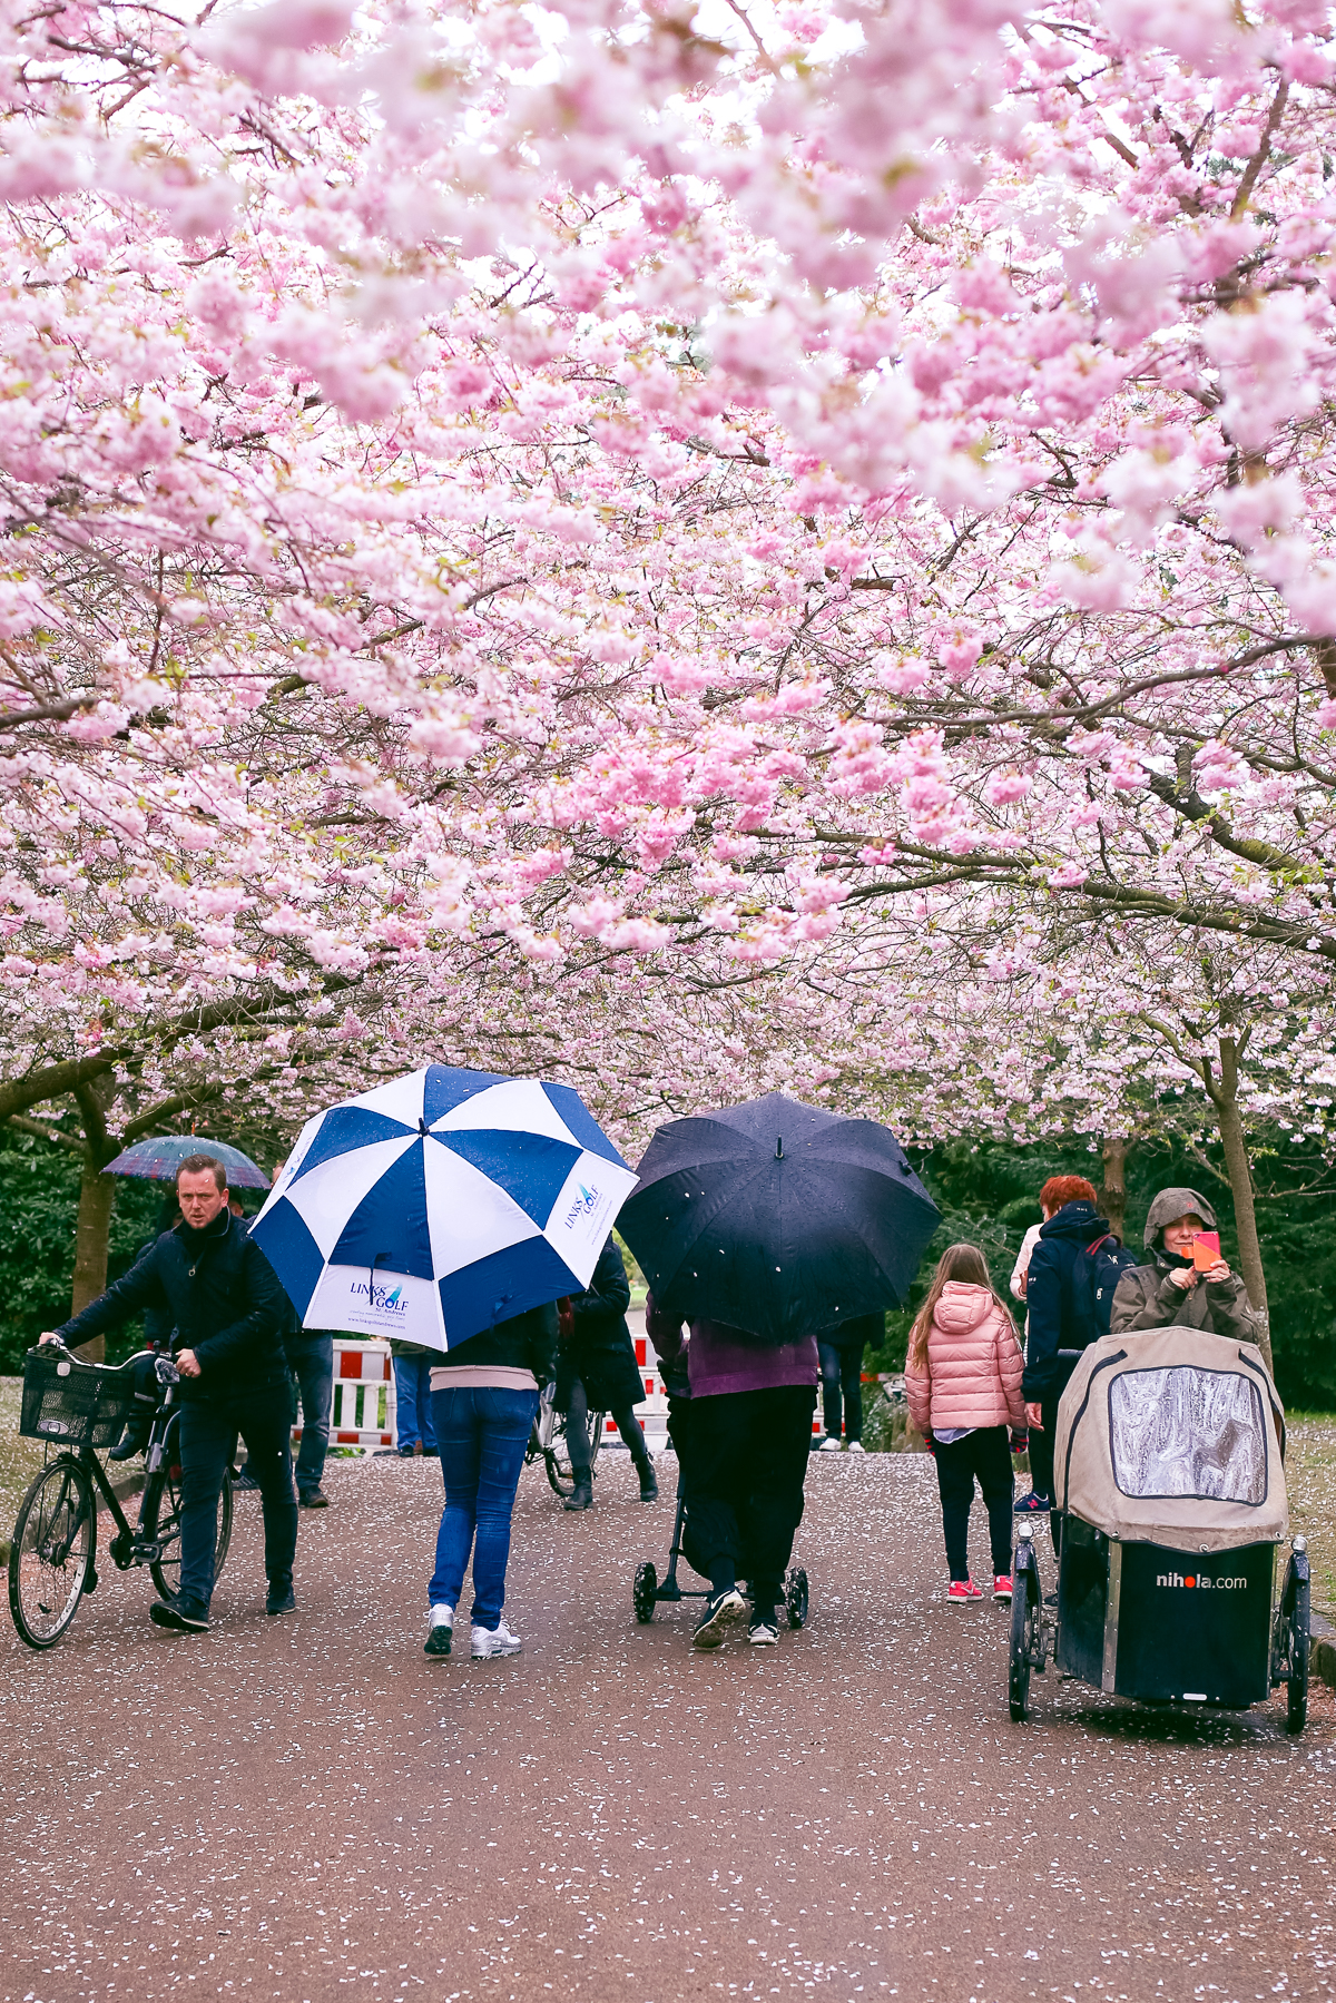
{"type": "Polygon", "coordinates": [[[631,1616],[671,1522],[633,1486],[609,1460],[569,1518],[525,1474],[511,1662],[421,1652],[423,1462],[330,1472],[296,1618],[238,1498],[212,1636],[116,1576],[50,1654],[10,1634],[0,1997],[1336,1993],[1326,1693],[1292,1743],[1274,1705],[1156,1719],[1050,1673],[1012,1727],[913,1456],[815,1464],[811,1626],[693,1656],[687,1608],[631,1616]]]}

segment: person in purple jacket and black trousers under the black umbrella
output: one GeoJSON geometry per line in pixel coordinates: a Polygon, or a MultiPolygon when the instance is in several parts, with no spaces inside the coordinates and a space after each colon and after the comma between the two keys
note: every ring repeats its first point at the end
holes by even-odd
{"type": "Polygon", "coordinates": [[[747,1618],[737,1572],[751,1584],[751,1644],[779,1640],[777,1604],[803,1520],[803,1480],[817,1404],[817,1338],[763,1346],[745,1328],[691,1322],[645,1302],[645,1328],[663,1372],[681,1370],[689,1404],[691,1560],[709,1578],[695,1648],[717,1648],[747,1618]]]}

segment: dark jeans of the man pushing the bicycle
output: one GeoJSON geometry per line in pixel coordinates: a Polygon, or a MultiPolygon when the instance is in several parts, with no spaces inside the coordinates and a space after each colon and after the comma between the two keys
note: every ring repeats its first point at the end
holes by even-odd
{"type": "Polygon", "coordinates": [[[246,1466],[260,1484],[264,1572],[270,1586],[292,1582],[296,1494],[288,1386],[190,1398],[180,1408],[180,1596],[208,1606],[214,1590],[214,1544],[222,1472],[240,1432],[246,1466]]]}

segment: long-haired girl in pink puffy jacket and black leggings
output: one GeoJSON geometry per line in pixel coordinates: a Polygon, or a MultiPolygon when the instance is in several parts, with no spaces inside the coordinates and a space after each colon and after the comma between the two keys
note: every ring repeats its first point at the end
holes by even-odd
{"type": "Polygon", "coordinates": [[[977,1476],[993,1546],[993,1598],[1012,1598],[1012,1444],[1026,1424],[1022,1348],[1006,1302],[993,1292],[977,1246],[941,1254],[909,1330],[909,1416],[937,1462],[949,1606],[983,1594],[969,1576],[969,1504],[977,1476]]]}

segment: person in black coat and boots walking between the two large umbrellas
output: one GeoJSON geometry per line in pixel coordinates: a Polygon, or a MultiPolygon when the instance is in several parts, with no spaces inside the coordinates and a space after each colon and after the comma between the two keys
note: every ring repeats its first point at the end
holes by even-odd
{"type": "Polygon", "coordinates": [[[589,1472],[589,1412],[611,1412],[617,1432],[631,1448],[641,1476],[641,1502],[659,1494],[653,1460],[635,1406],[645,1396],[641,1366],[627,1328],[631,1282],[613,1238],[599,1252],[599,1264],[583,1294],[571,1296],[569,1330],[563,1326],[557,1350],[557,1410],[567,1414],[567,1446],[575,1492],[567,1508],[589,1508],[593,1476],[589,1472]]]}

